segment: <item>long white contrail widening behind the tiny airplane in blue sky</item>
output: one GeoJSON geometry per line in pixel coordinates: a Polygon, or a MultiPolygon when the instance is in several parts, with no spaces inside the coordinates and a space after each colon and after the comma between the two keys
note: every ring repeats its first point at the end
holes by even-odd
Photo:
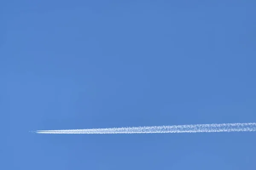
{"type": "Polygon", "coordinates": [[[73,130],[37,130],[49,134],[116,134],[116,133],[200,133],[200,132],[253,132],[256,123],[224,123],[172,126],[113,127],[73,130]]]}

